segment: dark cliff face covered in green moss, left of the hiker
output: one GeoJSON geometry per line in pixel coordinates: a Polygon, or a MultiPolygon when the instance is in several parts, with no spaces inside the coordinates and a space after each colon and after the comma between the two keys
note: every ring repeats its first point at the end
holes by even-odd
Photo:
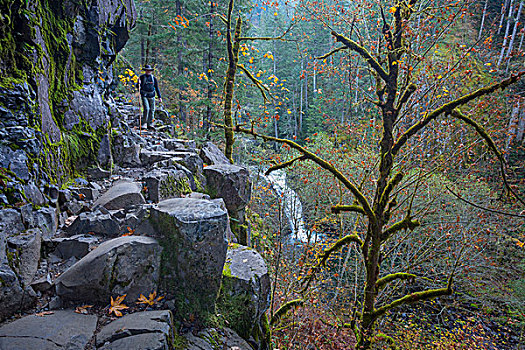
{"type": "Polygon", "coordinates": [[[8,183],[61,184],[111,166],[112,63],[136,19],[132,0],[0,0],[2,201],[8,183]]]}

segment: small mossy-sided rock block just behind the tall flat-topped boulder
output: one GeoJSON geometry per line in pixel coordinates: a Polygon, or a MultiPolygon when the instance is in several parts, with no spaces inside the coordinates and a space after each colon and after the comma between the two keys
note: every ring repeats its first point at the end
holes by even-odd
{"type": "Polygon", "coordinates": [[[156,203],[191,193],[190,181],[181,170],[154,169],[144,175],[142,181],[146,183],[149,199],[156,203]]]}

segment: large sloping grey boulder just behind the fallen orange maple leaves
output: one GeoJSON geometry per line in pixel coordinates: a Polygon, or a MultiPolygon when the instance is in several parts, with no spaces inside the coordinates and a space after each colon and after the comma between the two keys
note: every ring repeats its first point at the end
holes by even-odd
{"type": "Polygon", "coordinates": [[[134,301],[157,289],[161,251],[150,237],[104,242],[57,278],[57,295],[66,302],[107,304],[111,296],[127,294],[134,301]]]}

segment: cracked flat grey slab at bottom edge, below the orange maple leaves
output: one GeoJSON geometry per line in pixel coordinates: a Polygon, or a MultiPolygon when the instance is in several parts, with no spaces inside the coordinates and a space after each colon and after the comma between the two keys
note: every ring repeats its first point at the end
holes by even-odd
{"type": "Polygon", "coordinates": [[[97,334],[97,349],[165,350],[174,338],[171,311],[145,311],[126,315],[97,334]]]}

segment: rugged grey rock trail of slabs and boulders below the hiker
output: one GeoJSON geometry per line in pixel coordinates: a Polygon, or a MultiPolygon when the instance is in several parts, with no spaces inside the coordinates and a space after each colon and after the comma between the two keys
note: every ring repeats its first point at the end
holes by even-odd
{"type": "Polygon", "coordinates": [[[127,112],[113,120],[111,172],[88,171],[47,194],[35,186],[32,203],[0,210],[0,348],[265,348],[268,272],[230,227],[250,200],[248,171],[212,143],[140,136],[127,127],[136,111],[117,109],[127,112]],[[133,305],[152,292],[163,296],[154,310],[107,315],[111,297],[133,305]],[[232,303],[248,325],[228,320],[232,303]],[[95,306],[75,313],[83,305],[95,306]],[[217,314],[237,329],[206,328],[217,314]],[[179,334],[181,322],[192,332],[179,334]]]}

